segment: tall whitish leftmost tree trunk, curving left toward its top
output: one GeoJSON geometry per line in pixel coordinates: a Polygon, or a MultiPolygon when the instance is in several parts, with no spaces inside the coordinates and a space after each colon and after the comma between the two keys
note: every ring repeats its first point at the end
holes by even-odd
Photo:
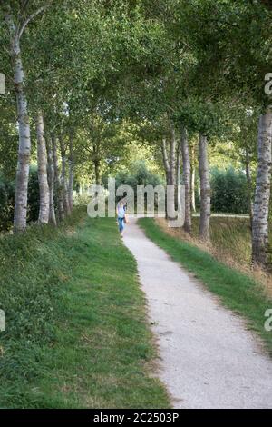
{"type": "Polygon", "coordinates": [[[27,190],[30,163],[30,125],[27,109],[27,100],[24,94],[24,66],[22,63],[19,35],[11,15],[5,15],[11,40],[11,56],[14,69],[14,84],[17,104],[19,127],[18,161],[15,184],[15,232],[24,231],[27,215],[27,190]]]}

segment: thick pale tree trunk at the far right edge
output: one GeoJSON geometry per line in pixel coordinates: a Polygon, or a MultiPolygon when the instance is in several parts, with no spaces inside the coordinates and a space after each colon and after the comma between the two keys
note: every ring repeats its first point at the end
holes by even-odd
{"type": "Polygon", "coordinates": [[[252,220],[252,262],[267,267],[268,214],[271,180],[272,113],[261,115],[257,138],[257,183],[252,220]]]}

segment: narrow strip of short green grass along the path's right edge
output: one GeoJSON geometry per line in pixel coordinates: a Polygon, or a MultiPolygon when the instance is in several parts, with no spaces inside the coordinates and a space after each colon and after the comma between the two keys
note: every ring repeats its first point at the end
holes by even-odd
{"type": "Polygon", "coordinates": [[[139,223],[147,236],[169,253],[174,261],[193,273],[209,291],[219,295],[225,306],[247,319],[248,329],[261,336],[272,355],[272,332],[264,329],[264,313],[267,308],[272,308],[272,301],[258,283],[248,275],[219,263],[198,247],[164,233],[151,218],[142,218],[139,223]]]}

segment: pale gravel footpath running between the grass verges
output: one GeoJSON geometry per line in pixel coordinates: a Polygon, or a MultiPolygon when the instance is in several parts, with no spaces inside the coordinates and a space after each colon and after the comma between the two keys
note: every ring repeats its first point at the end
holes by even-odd
{"type": "Polygon", "coordinates": [[[152,243],[135,219],[123,238],[138,263],[160,379],[175,408],[272,408],[272,362],[243,322],[152,243]]]}

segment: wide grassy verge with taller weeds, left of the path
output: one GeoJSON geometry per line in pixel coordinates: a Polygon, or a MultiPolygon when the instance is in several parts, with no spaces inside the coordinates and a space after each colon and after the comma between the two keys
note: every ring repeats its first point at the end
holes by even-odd
{"type": "Polygon", "coordinates": [[[0,407],[170,407],[114,219],[77,209],[57,231],[5,236],[0,259],[0,407]]]}

